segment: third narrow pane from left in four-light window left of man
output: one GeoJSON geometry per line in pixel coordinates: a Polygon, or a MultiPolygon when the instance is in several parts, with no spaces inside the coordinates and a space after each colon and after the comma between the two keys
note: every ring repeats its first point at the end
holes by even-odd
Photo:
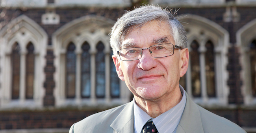
{"type": "Polygon", "coordinates": [[[96,97],[105,97],[105,54],[104,44],[99,42],[96,46],[96,97]]]}

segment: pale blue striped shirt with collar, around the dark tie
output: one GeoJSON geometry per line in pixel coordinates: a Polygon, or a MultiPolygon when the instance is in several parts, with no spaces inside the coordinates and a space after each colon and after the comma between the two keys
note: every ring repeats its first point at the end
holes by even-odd
{"type": "MultiPolygon", "coordinates": [[[[181,101],[170,110],[162,113],[161,115],[153,119],[158,133],[173,133],[178,126],[186,105],[186,94],[182,86],[180,86],[180,91],[182,92],[181,101]]],[[[152,117],[150,117],[145,111],[139,108],[139,106],[135,102],[135,99],[133,100],[133,102],[135,133],[141,133],[141,129],[143,128],[143,126],[149,119],[152,119],[152,117]]]]}

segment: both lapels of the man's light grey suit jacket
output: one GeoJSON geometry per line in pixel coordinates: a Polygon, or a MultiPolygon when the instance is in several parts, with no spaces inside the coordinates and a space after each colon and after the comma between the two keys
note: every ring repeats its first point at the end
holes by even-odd
{"type": "MultiPolygon", "coordinates": [[[[134,133],[134,105],[126,104],[117,118],[110,125],[117,133],[134,133]]],[[[176,133],[203,133],[202,121],[197,104],[193,102],[186,92],[186,105],[176,133]]]]}

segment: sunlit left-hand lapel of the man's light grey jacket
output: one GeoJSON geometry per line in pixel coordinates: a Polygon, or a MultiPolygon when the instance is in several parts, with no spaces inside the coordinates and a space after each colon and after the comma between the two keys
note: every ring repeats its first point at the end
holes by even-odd
{"type": "Polygon", "coordinates": [[[134,104],[129,102],[110,125],[116,133],[134,132],[134,104]]]}

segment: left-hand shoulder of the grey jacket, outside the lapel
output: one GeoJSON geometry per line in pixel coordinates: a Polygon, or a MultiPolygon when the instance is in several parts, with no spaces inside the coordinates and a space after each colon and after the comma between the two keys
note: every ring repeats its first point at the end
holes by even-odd
{"type": "Polygon", "coordinates": [[[110,131],[112,130],[110,127],[111,123],[125,108],[125,106],[127,106],[127,104],[90,115],[85,119],[74,123],[71,126],[69,133],[82,133],[84,131],[110,131]]]}

